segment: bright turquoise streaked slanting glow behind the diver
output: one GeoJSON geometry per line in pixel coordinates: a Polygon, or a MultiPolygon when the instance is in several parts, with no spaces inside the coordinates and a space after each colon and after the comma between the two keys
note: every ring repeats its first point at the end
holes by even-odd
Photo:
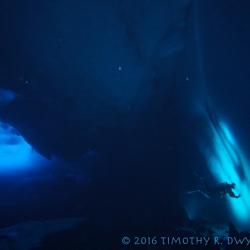
{"type": "Polygon", "coordinates": [[[213,152],[204,151],[211,173],[218,182],[236,183],[239,199],[227,198],[235,222],[249,226],[250,222],[250,172],[249,164],[237,146],[233,134],[225,123],[219,121],[219,128],[212,125],[213,152]],[[240,178],[244,174],[244,181],[240,178]]]}

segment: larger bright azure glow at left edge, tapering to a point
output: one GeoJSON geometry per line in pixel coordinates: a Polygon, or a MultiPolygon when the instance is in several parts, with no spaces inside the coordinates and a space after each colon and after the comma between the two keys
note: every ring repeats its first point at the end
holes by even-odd
{"type": "Polygon", "coordinates": [[[39,165],[45,159],[6,123],[0,122],[0,173],[15,173],[39,165]]]}

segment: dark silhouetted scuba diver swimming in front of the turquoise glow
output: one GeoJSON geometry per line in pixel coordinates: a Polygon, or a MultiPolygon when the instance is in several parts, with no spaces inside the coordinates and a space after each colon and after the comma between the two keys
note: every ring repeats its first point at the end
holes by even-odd
{"type": "MultiPolygon", "coordinates": [[[[199,177],[200,178],[200,177],[199,177]]],[[[201,181],[201,188],[188,191],[187,194],[194,194],[194,193],[200,193],[204,197],[210,199],[213,197],[220,197],[224,198],[226,195],[229,195],[231,198],[240,198],[240,194],[236,195],[234,193],[234,189],[236,188],[235,183],[227,183],[227,182],[222,182],[218,183],[216,185],[208,185],[203,178],[200,178],[201,181]]]]}

